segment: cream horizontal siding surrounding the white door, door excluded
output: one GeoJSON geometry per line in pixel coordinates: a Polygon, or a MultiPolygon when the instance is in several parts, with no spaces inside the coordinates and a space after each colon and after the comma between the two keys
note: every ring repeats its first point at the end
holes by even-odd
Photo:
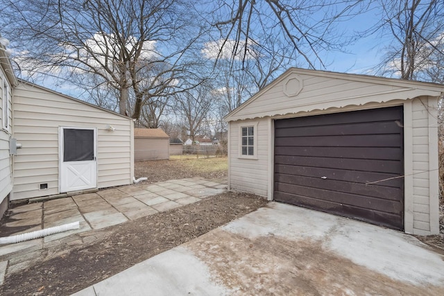
{"type": "Polygon", "coordinates": [[[48,89],[20,83],[15,89],[14,137],[22,143],[14,160],[11,200],[58,194],[59,127],[97,129],[97,187],[133,179],[133,122],[48,89]],[[107,130],[112,125],[114,131],[107,130]],[[40,184],[48,189],[40,191],[40,184]]]}

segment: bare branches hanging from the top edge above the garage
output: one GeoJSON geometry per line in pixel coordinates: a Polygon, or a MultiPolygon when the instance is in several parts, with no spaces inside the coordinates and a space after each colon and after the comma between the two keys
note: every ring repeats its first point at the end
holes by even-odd
{"type": "MultiPolygon", "coordinates": [[[[228,46],[232,59],[245,61],[250,44],[263,44],[270,36],[280,36],[285,47],[294,50],[293,60],[312,69],[325,67],[320,53],[341,50],[348,40],[337,31],[337,22],[365,9],[362,0],[219,0],[210,11],[219,33],[219,58],[228,46]],[[261,43],[262,42],[262,43],[261,43]]],[[[277,52],[268,43],[268,51],[277,52]]]]}

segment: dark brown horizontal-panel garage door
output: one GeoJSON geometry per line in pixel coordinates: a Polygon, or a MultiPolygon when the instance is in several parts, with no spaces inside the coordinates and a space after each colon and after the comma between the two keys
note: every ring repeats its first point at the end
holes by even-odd
{"type": "Polygon", "coordinates": [[[402,107],[275,121],[274,199],[404,229],[402,107]],[[370,182],[376,182],[369,184],[370,182]]]}

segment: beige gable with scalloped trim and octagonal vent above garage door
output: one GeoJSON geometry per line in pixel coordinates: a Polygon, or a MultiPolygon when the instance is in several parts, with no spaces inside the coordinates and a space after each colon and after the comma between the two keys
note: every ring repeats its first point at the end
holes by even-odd
{"type": "Polygon", "coordinates": [[[430,82],[290,68],[224,120],[255,119],[417,96],[441,96],[443,92],[444,85],[430,82]]]}

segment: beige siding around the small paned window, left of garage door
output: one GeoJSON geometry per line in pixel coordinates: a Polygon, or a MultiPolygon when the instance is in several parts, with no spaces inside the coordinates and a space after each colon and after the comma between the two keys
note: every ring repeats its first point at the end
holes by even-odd
{"type": "Polygon", "coordinates": [[[268,146],[270,134],[266,119],[260,121],[230,122],[230,189],[246,191],[261,196],[268,195],[268,146]],[[240,157],[240,132],[242,126],[256,126],[255,158],[240,157]]]}

